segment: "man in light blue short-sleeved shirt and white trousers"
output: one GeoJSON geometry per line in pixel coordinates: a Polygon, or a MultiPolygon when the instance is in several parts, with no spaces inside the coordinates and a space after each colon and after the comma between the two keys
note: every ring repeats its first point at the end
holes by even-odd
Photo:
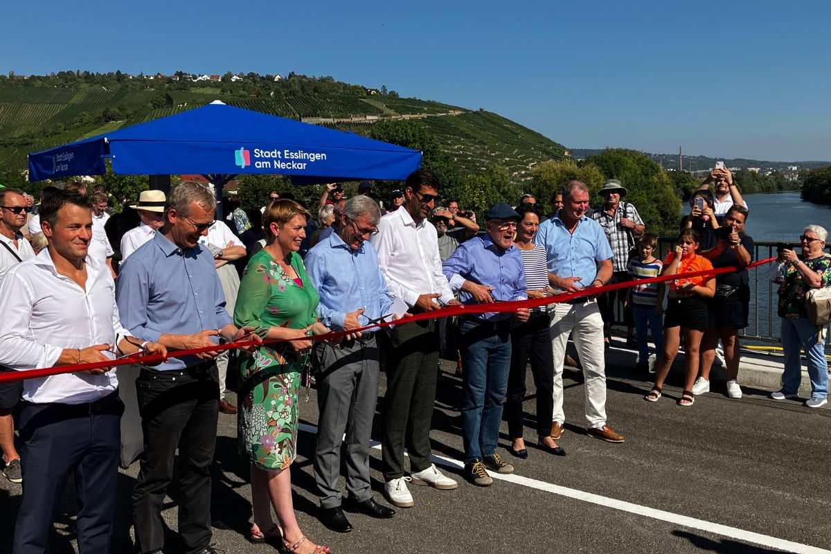
{"type": "MultiPolygon", "coordinates": [[[[588,187],[569,181],[563,189],[563,208],[543,222],[534,238],[548,257],[548,282],[560,292],[602,287],[612,278],[612,248],[599,223],[586,216],[588,187]]],[[[586,384],[586,419],[589,436],[610,443],[623,437],[606,423],[606,361],[603,358],[603,319],[595,297],[580,297],[551,305],[554,357],[554,413],[551,437],[563,433],[563,361],[572,335],[583,364],[586,384]]]]}

